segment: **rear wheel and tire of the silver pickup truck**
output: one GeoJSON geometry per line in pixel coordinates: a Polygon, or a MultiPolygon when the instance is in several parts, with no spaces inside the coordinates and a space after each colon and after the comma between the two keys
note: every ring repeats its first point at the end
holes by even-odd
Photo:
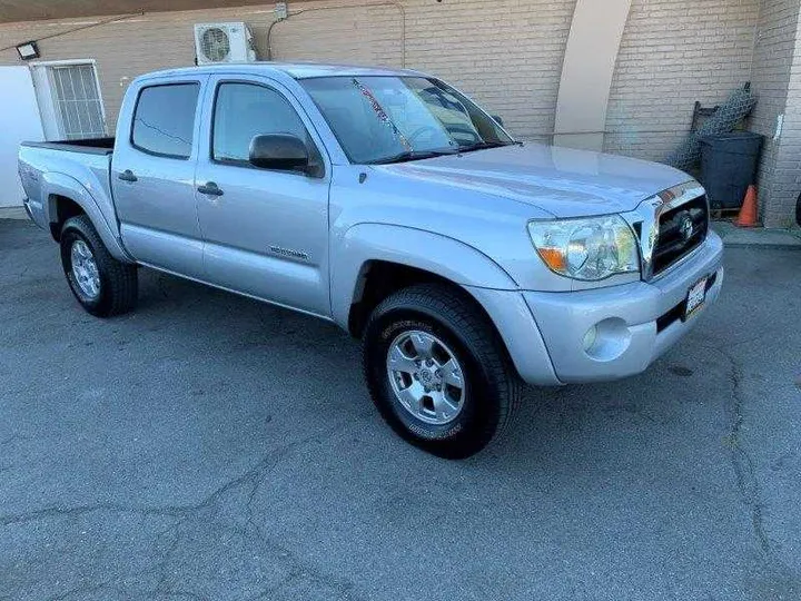
{"type": "Polygon", "coordinates": [[[111,317],[134,309],[138,295],[137,267],[109,254],[89,217],[79,215],[68,219],[61,228],[60,245],[67,282],[88,313],[111,317]],[[78,268],[73,268],[73,257],[78,268]],[[93,277],[86,277],[87,274],[93,277]]]}

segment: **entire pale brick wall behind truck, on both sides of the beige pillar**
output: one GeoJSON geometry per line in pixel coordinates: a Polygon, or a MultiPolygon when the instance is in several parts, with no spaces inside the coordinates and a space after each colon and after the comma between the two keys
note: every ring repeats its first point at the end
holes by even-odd
{"type": "MultiPolygon", "coordinates": [[[[390,66],[405,59],[475,96],[518,137],[548,139],[575,0],[379,1],[290,2],[298,13],[275,26],[274,58],[390,66]]],[[[610,97],[606,149],[662,158],[689,127],[695,99],[720,102],[746,80],[756,3],[634,0],[610,97]]],[[[273,7],[150,13],[43,40],[42,59],[97,59],[112,127],[132,77],[192,62],[195,22],[246,21],[265,58],[273,7]]],[[[0,24],[0,47],[93,20],[0,24]]],[[[0,52],[0,62],[16,62],[14,51],[0,52]]]]}

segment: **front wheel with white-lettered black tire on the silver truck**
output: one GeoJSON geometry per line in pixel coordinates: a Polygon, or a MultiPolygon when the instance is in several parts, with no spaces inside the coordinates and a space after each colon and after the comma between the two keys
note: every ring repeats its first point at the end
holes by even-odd
{"type": "Polygon", "coordinates": [[[445,285],[413,286],[384,300],[365,327],[363,362],[384,420],[399,436],[439,457],[465,459],[497,441],[508,431],[522,396],[521,380],[488,317],[466,293],[445,285]],[[418,353],[428,343],[428,354],[418,353]],[[421,366],[409,364],[409,357],[421,366]],[[409,375],[407,370],[416,371],[409,375]],[[421,388],[424,382],[434,386],[431,393],[421,388]]]}

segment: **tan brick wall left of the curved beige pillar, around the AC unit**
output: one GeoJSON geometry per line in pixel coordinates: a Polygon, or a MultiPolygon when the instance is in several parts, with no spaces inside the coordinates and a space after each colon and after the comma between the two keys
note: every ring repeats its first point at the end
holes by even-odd
{"type": "MultiPolygon", "coordinates": [[[[553,130],[575,0],[352,0],[318,10],[332,4],[290,2],[293,12],[303,12],[275,26],[274,58],[400,66],[405,57],[407,67],[448,79],[503,115],[517,136],[553,130]]],[[[149,13],[43,40],[41,60],[96,59],[113,128],[131,78],[192,63],[196,22],[247,22],[266,58],[274,6],[149,13]]],[[[0,48],[99,20],[0,24],[0,48]]],[[[0,52],[0,63],[18,63],[16,51],[0,52]]]]}

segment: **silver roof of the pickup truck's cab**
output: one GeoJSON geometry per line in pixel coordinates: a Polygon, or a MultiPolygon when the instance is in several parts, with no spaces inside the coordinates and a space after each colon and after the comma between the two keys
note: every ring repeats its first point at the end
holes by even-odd
{"type": "Polygon", "coordinates": [[[186,76],[189,73],[265,73],[279,72],[288,75],[294,79],[308,79],[313,77],[336,77],[336,76],[421,76],[419,71],[411,69],[393,69],[390,67],[364,67],[358,65],[336,65],[325,62],[226,62],[219,65],[201,65],[199,67],[185,67],[181,69],[168,69],[147,73],[149,77],[186,76]]]}

